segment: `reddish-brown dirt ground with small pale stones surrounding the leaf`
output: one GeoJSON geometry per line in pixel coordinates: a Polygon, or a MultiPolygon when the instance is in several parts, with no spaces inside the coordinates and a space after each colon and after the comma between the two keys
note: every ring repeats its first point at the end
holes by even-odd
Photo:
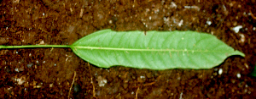
{"type": "Polygon", "coordinates": [[[71,45],[103,29],[196,30],[246,54],[245,58],[231,56],[214,69],[148,70],[97,68],[69,48],[1,49],[1,98],[256,96],[256,80],[249,75],[256,63],[255,0],[0,2],[0,45],[71,45]]]}

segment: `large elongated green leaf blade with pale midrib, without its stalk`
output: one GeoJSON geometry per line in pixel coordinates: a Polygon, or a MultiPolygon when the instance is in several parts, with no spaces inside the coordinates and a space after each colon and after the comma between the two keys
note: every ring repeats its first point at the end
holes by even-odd
{"type": "Polygon", "coordinates": [[[215,36],[195,31],[100,30],[71,46],[101,68],[211,69],[231,55],[245,55],[215,36]]]}

